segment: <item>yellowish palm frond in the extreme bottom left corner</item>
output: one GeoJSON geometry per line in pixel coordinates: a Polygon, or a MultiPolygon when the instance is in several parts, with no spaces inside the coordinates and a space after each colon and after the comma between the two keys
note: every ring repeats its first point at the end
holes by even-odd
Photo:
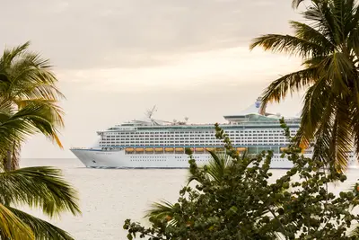
{"type": "Polygon", "coordinates": [[[0,203],[0,231],[1,234],[13,240],[35,240],[31,228],[27,226],[20,218],[13,214],[0,203]]]}

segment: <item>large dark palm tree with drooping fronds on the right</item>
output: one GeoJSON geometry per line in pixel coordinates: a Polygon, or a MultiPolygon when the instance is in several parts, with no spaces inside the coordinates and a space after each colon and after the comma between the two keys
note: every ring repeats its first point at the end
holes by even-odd
{"type": "Polygon", "coordinates": [[[291,21],[293,35],[267,34],[250,45],[302,58],[301,70],[267,87],[261,111],[305,88],[297,143],[314,143],[314,157],[341,171],[348,152],[359,151],[359,8],[355,0],[312,0],[302,17],[309,23],[291,21]]]}

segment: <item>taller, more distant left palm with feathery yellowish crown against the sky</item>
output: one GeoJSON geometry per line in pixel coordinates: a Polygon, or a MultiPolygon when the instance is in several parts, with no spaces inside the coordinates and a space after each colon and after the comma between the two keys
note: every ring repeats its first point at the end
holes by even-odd
{"type": "MultiPolygon", "coordinates": [[[[56,87],[57,77],[51,70],[48,59],[28,50],[30,42],[4,49],[0,58],[0,96],[2,104],[7,104],[13,112],[32,106],[41,108],[41,120],[32,118],[29,123],[35,132],[44,134],[62,147],[57,136],[63,126],[63,111],[57,101],[64,98],[56,87]],[[45,126],[46,125],[46,126],[45,126]]],[[[21,142],[15,141],[2,154],[4,169],[18,167],[21,142]]]]}

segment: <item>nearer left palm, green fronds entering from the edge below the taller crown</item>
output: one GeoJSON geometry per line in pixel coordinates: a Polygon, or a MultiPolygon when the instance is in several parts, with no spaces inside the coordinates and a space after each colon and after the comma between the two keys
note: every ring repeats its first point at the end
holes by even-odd
{"type": "MultiPolygon", "coordinates": [[[[0,153],[6,152],[13,141],[21,142],[36,132],[36,124],[50,128],[43,111],[47,107],[37,102],[13,111],[9,102],[0,101],[0,153]]],[[[0,239],[74,239],[66,231],[15,209],[14,205],[40,208],[50,218],[64,211],[80,214],[77,193],[63,179],[60,170],[43,166],[0,173],[0,239]]]]}

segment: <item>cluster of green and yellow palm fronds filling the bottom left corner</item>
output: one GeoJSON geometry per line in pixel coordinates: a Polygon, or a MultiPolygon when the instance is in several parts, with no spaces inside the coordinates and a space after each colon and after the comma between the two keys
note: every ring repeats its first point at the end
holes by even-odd
{"type": "Polygon", "coordinates": [[[27,167],[0,173],[1,239],[73,240],[66,231],[12,205],[40,208],[48,217],[81,213],[77,193],[53,167],[27,167]]]}

